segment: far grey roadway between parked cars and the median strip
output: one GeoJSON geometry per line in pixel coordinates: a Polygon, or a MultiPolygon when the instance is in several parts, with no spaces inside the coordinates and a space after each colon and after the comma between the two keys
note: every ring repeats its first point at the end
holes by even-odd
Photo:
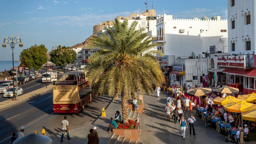
{"type": "MultiPolygon", "coordinates": [[[[45,71],[39,70],[38,72],[43,74],[45,71]]],[[[27,72],[27,74],[28,74],[28,72],[27,72]]],[[[42,83],[42,78],[40,76],[38,76],[37,79],[29,81],[25,84],[18,85],[18,87],[21,87],[23,89],[23,94],[35,91],[44,86],[46,86],[46,83],[42,83]]],[[[12,98],[4,98],[3,94],[0,94],[0,102],[4,101],[4,100],[8,100],[8,99],[12,99],[12,98]]]]}

